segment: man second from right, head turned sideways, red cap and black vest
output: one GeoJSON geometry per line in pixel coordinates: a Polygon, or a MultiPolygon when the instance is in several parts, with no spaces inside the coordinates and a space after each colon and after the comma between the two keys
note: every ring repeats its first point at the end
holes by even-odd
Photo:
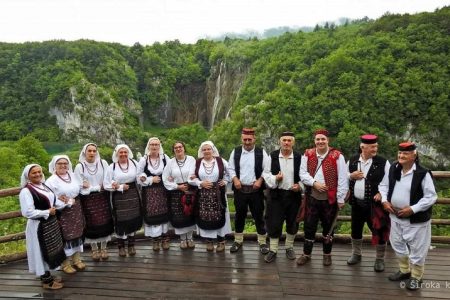
{"type": "Polygon", "coordinates": [[[372,231],[372,244],[376,245],[375,272],[384,271],[384,254],[389,239],[389,214],[383,210],[378,185],[389,172],[389,161],[378,156],[378,137],[361,136],[360,154],[350,158],[350,205],[352,206],[352,255],[347,264],[361,262],[364,223],[372,231]]]}

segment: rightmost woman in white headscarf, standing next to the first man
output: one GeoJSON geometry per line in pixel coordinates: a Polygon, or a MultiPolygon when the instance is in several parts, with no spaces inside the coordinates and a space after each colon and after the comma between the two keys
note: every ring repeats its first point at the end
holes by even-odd
{"type": "Polygon", "coordinates": [[[196,204],[196,223],[201,237],[206,238],[206,250],[225,250],[225,235],[231,233],[230,213],[226,199],[229,181],[228,163],[219,156],[213,142],[206,141],[198,149],[198,159],[188,182],[199,188],[196,204]]]}

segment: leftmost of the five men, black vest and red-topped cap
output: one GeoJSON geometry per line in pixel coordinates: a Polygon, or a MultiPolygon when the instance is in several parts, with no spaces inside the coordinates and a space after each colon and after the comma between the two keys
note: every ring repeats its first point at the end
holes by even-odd
{"type": "Polygon", "coordinates": [[[237,252],[242,247],[245,219],[247,210],[250,208],[258,232],[259,250],[261,254],[267,254],[269,248],[266,244],[266,229],[263,218],[264,179],[262,172],[264,168],[268,167],[269,158],[264,149],[255,146],[254,129],[242,129],[241,140],[242,146],[236,147],[231,152],[228,163],[228,172],[233,182],[234,207],[236,209],[234,243],[230,247],[230,252],[237,252]]]}

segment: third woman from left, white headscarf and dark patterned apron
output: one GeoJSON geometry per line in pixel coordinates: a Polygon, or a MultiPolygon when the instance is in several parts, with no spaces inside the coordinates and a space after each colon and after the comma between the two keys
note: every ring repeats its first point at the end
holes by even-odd
{"type": "Polygon", "coordinates": [[[78,161],[74,173],[82,183],[80,199],[86,219],[85,242],[91,245],[94,261],[106,260],[106,245],[114,232],[109,193],[103,189],[108,163],[100,159],[97,145],[93,143],[83,146],[78,161]]]}

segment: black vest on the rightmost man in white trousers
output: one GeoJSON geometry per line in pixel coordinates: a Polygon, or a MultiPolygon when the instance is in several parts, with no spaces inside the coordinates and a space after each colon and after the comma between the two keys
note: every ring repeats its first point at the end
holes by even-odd
{"type": "MultiPolygon", "coordinates": [[[[398,162],[394,162],[389,169],[389,191],[388,191],[388,201],[391,202],[392,193],[394,192],[395,183],[395,169],[398,167],[398,162]]],[[[413,172],[413,178],[411,182],[411,193],[409,196],[409,205],[412,206],[419,202],[423,197],[422,180],[425,178],[429,170],[423,168],[416,163],[416,170],[413,172]]],[[[431,175],[431,172],[430,172],[431,175]]],[[[411,223],[422,223],[431,219],[432,207],[426,211],[420,211],[409,217],[411,223]]]]}

